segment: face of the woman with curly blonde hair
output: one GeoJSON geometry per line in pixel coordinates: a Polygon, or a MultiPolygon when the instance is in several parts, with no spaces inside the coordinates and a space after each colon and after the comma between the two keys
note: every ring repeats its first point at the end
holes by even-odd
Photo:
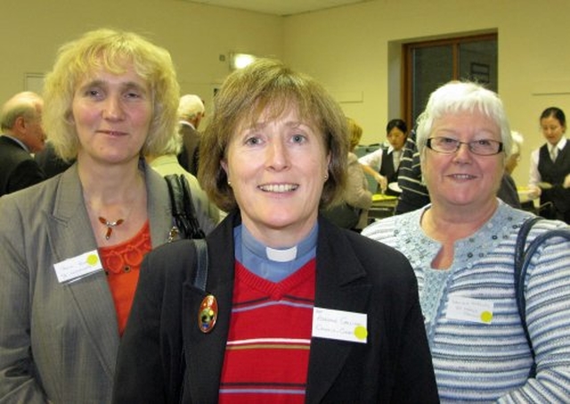
{"type": "Polygon", "coordinates": [[[134,69],[114,75],[96,70],[77,85],[72,120],[77,160],[123,164],[138,160],[151,125],[151,93],[134,69]]]}

